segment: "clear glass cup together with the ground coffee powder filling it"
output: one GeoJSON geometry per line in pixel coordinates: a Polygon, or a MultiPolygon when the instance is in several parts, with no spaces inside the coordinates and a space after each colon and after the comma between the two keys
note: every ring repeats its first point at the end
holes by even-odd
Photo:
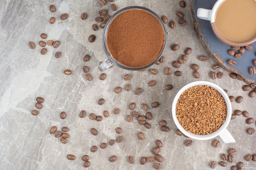
{"type": "Polygon", "coordinates": [[[154,11],[131,6],[112,15],[104,27],[102,41],[108,58],[99,64],[100,71],[113,64],[126,70],[142,70],[162,56],[167,33],[154,11]]]}

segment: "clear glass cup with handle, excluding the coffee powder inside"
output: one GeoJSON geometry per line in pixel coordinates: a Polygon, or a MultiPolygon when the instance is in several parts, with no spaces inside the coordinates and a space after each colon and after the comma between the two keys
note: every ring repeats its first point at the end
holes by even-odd
{"type": "Polygon", "coordinates": [[[162,22],[161,18],[152,10],[145,8],[145,7],[140,7],[140,6],[130,6],[130,7],[126,7],[123,9],[120,9],[119,11],[117,11],[114,15],[112,15],[112,17],[108,20],[108,22],[106,23],[104,29],[103,29],[103,35],[102,35],[102,43],[103,43],[103,48],[104,51],[107,55],[108,58],[106,58],[103,62],[101,62],[101,64],[99,64],[98,68],[100,71],[104,71],[107,68],[109,68],[110,66],[112,66],[113,64],[124,68],[126,70],[142,70],[144,68],[148,68],[149,66],[152,66],[153,64],[155,64],[155,62],[157,62],[160,57],[162,57],[164,50],[166,48],[166,44],[167,44],[167,33],[166,33],[166,29],[164,27],[164,23],[162,22]],[[155,18],[157,18],[157,20],[161,23],[163,30],[164,30],[164,46],[162,51],[159,53],[159,55],[156,57],[156,59],[151,62],[150,64],[146,65],[146,66],[142,66],[142,67],[129,67],[126,66],[124,64],[121,64],[120,62],[118,62],[117,60],[115,60],[115,58],[111,55],[109,49],[108,49],[108,44],[107,44],[107,35],[108,35],[108,28],[111,24],[111,22],[117,17],[117,15],[119,15],[120,13],[124,12],[124,11],[128,11],[128,10],[132,10],[132,9],[139,9],[139,10],[143,10],[143,11],[147,11],[148,13],[151,13],[153,16],[155,16],[155,18]]]}

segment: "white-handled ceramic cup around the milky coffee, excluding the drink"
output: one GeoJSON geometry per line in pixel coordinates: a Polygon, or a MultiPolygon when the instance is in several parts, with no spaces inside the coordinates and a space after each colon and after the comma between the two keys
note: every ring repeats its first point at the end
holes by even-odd
{"type": "MultiPolygon", "coordinates": [[[[198,8],[197,17],[200,18],[200,19],[203,19],[203,20],[209,20],[210,24],[211,24],[211,28],[213,30],[213,33],[216,35],[216,37],[220,41],[224,42],[225,44],[228,44],[228,45],[231,45],[231,46],[246,46],[246,45],[249,45],[249,44],[252,44],[253,42],[255,42],[256,41],[256,35],[254,37],[250,38],[249,40],[245,40],[243,42],[235,42],[235,41],[232,41],[232,40],[227,40],[227,38],[225,38],[221,33],[218,32],[218,28],[214,23],[215,23],[215,20],[216,20],[216,13],[218,11],[218,8],[222,5],[222,3],[224,1],[225,0],[218,0],[214,4],[212,9],[198,8]]],[[[241,2],[242,2],[242,0],[241,0],[241,2]]],[[[246,3],[245,0],[243,0],[243,2],[246,3]]],[[[256,3],[256,0],[255,0],[255,3],[256,3]]],[[[256,18],[251,18],[251,22],[256,22],[256,18]]],[[[239,21],[237,22],[237,24],[239,26],[239,21]]],[[[227,28],[227,29],[230,29],[230,28],[227,28]]],[[[256,31],[255,31],[255,33],[256,33],[256,31]]]]}

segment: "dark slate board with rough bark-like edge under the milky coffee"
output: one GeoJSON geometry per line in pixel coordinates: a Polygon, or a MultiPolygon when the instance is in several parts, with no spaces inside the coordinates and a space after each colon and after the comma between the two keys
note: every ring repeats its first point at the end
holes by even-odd
{"type": "Polygon", "coordinates": [[[191,11],[198,38],[211,58],[221,65],[222,68],[226,71],[241,75],[248,82],[255,83],[256,75],[251,75],[249,73],[249,68],[254,66],[254,60],[256,60],[256,42],[251,44],[254,48],[252,51],[246,50],[243,57],[238,59],[227,53],[232,47],[222,43],[216,38],[211,29],[210,21],[202,20],[197,17],[198,8],[212,9],[216,1],[217,0],[191,0],[191,11]],[[230,59],[236,61],[236,66],[231,66],[228,63],[228,60],[230,59]]]}

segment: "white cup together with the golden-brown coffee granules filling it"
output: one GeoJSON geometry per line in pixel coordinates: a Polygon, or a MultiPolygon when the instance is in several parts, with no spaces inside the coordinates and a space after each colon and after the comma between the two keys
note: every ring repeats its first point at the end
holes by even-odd
{"type": "Polygon", "coordinates": [[[186,136],[208,140],[219,136],[226,144],[236,142],[227,130],[231,102],[220,86],[206,81],[187,84],[176,94],[172,105],[173,120],[186,136]]]}

